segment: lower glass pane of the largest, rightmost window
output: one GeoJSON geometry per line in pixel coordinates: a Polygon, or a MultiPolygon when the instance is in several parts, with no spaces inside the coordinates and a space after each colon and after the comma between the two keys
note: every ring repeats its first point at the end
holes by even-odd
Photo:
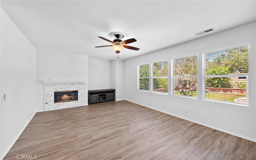
{"type": "Polygon", "coordinates": [[[206,77],[205,98],[246,104],[246,77],[206,77]]]}

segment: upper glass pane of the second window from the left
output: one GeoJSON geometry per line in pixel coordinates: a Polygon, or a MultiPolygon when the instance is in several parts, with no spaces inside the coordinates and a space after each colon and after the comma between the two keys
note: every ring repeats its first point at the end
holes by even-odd
{"type": "Polygon", "coordinates": [[[153,76],[168,76],[168,61],[156,62],[153,64],[153,76]]]}

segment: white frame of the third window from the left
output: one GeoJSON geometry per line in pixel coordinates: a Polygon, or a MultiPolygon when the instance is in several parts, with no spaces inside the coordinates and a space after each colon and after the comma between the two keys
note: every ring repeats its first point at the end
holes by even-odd
{"type": "Polygon", "coordinates": [[[171,71],[171,78],[172,78],[172,84],[171,84],[171,93],[173,96],[178,96],[178,97],[186,97],[186,98],[192,98],[192,99],[197,99],[198,98],[198,72],[196,76],[174,76],[174,60],[175,59],[180,59],[180,58],[187,58],[187,57],[194,57],[196,56],[196,60],[197,60],[197,71],[198,71],[198,55],[197,54],[189,54],[189,55],[184,55],[184,56],[180,56],[180,57],[175,57],[171,60],[171,65],[172,65],[172,71],[171,71]],[[174,94],[174,78],[196,78],[196,91],[197,91],[197,96],[196,97],[192,97],[192,96],[184,96],[184,95],[178,95],[178,94],[174,94]]]}

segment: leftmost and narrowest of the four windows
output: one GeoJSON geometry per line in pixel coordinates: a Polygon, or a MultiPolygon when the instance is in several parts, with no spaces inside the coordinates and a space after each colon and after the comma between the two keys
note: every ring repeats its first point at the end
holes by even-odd
{"type": "Polygon", "coordinates": [[[138,90],[149,90],[149,64],[138,66],[138,90]]]}

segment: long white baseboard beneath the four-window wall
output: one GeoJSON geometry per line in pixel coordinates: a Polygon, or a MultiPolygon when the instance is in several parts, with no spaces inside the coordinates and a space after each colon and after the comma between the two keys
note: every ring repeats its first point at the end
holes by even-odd
{"type": "Polygon", "coordinates": [[[195,120],[193,120],[193,119],[189,119],[189,118],[186,118],[186,117],[182,117],[182,116],[179,116],[179,115],[175,115],[175,114],[172,114],[172,113],[163,111],[163,110],[161,110],[161,109],[157,109],[157,108],[154,108],[154,107],[149,107],[149,106],[147,106],[147,105],[144,105],[144,104],[141,104],[141,103],[137,103],[137,102],[134,102],[134,101],[132,101],[132,100],[127,100],[127,101],[132,102],[132,103],[139,104],[139,105],[144,106],[144,107],[147,107],[147,108],[151,108],[151,109],[157,110],[157,111],[159,111],[159,112],[166,113],[166,114],[168,114],[168,115],[172,115],[172,116],[175,116],[175,117],[179,117],[179,118],[188,120],[188,121],[190,121],[190,122],[194,122],[194,123],[197,123],[197,124],[201,124],[201,125],[204,125],[204,126],[206,126],[206,127],[209,127],[209,128],[212,128],[212,129],[221,131],[221,132],[225,132],[225,133],[228,133],[228,134],[232,134],[232,135],[234,135],[234,136],[237,136],[237,137],[240,137],[240,138],[243,138],[243,139],[246,139],[246,140],[251,140],[251,141],[253,141],[253,142],[256,142],[256,139],[251,138],[251,137],[248,137],[248,136],[244,136],[244,135],[239,134],[239,133],[231,132],[231,131],[228,131],[228,130],[225,130],[225,129],[222,129],[222,128],[218,128],[218,127],[212,126],[212,125],[210,125],[210,124],[205,124],[205,123],[202,123],[202,122],[195,121],[195,120]]]}

